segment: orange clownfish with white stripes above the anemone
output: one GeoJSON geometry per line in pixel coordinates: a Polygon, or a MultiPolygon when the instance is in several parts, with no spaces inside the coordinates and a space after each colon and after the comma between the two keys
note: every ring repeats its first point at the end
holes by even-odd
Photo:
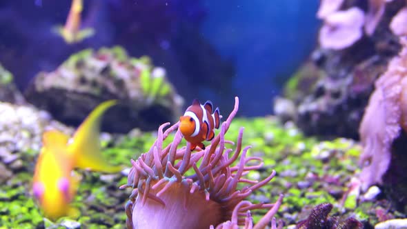
{"type": "Polygon", "coordinates": [[[212,111],[211,101],[201,105],[198,99],[195,99],[179,118],[179,130],[186,141],[191,143],[191,151],[197,146],[205,150],[202,141],[211,141],[215,137],[215,129],[219,128],[221,115],[219,108],[213,113],[212,111]]]}

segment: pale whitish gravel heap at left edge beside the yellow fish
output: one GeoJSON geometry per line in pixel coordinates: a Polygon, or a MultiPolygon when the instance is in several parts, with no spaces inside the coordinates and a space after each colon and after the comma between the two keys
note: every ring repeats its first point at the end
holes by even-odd
{"type": "Polygon", "coordinates": [[[17,172],[26,168],[33,172],[34,155],[26,152],[38,152],[41,147],[43,131],[57,129],[70,135],[73,130],[53,121],[46,112],[28,105],[0,102],[0,184],[8,172],[17,172]],[[1,168],[5,168],[1,172],[1,168]]]}

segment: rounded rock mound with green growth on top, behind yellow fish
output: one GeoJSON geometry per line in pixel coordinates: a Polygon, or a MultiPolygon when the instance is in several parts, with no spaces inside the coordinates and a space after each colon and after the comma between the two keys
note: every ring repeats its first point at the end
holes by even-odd
{"type": "Polygon", "coordinates": [[[30,103],[77,125],[93,105],[107,99],[121,103],[106,114],[105,129],[128,132],[151,130],[175,121],[183,99],[168,82],[166,70],[152,66],[148,57],[130,58],[119,46],[73,54],[54,72],[40,72],[26,90],[30,103]],[[120,119],[117,119],[120,117],[120,119]]]}

